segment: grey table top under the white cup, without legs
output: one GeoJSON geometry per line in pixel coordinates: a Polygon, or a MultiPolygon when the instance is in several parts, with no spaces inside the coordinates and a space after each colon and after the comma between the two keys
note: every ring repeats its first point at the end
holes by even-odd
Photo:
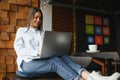
{"type": "Polygon", "coordinates": [[[96,52],[96,53],[79,52],[79,53],[75,53],[74,56],[84,56],[84,57],[92,57],[92,58],[120,59],[119,52],[96,52]]]}

